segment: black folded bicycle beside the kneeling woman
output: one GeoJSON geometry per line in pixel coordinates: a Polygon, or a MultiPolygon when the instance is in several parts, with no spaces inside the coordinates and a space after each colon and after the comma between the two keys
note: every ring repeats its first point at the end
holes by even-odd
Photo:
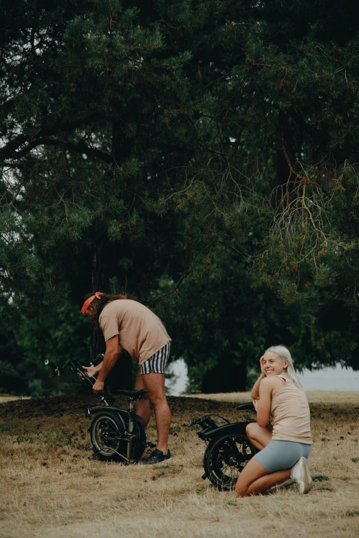
{"type": "MultiPolygon", "coordinates": [[[[252,402],[242,403],[237,409],[254,411],[254,405],[252,402]]],[[[243,422],[231,423],[223,416],[212,414],[193,418],[190,423],[191,426],[202,427],[197,435],[208,443],[204,452],[202,478],[208,478],[219,491],[235,489],[239,473],[257,453],[246,435],[246,426],[251,422],[255,421],[248,418],[243,422]],[[213,416],[218,416],[226,424],[218,426],[213,416]]]]}

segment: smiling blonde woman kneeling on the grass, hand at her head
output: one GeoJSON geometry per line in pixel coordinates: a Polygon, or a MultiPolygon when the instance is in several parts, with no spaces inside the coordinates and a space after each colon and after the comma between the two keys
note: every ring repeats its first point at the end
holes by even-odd
{"type": "Polygon", "coordinates": [[[279,484],[295,482],[299,493],[307,493],[312,486],[307,462],[312,450],[307,397],[287,348],[268,348],[260,363],[261,376],[251,393],[257,423],[246,428],[248,438],[260,452],[241,471],[237,495],[258,495],[279,484]],[[273,425],[269,424],[270,416],[273,425]]]}

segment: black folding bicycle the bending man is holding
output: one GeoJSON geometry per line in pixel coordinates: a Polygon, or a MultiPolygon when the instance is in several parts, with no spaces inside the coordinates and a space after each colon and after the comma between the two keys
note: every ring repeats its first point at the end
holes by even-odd
{"type": "MultiPolygon", "coordinates": [[[[103,359],[100,354],[90,363],[96,366],[103,359]]],[[[94,385],[96,378],[89,376],[78,361],[69,361],[59,367],[50,361],[45,361],[45,366],[53,368],[56,375],[60,376],[65,368],[80,374],[90,385],[94,385]]],[[[135,413],[134,402],[146,398],[146,389],[141,390],[118,390],[116,394],[123,394],[129,399],[128,409],[113,405],[113,396],[102,392],[99,394],[102,405],[88,407],[86,415],[94,419],[90,427],[90,436],[94,458],[108,461],[119,461],[124,464],[137,462],[147,447],[153,447],[153,443],[146,442],[146,434],[140,423],[141,416],[135,413]]]]}

